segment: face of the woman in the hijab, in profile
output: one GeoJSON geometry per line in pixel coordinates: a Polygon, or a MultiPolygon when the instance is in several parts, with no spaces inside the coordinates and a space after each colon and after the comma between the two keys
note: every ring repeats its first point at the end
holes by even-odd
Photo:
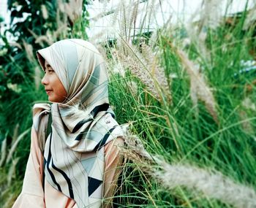
{"type": "Polygon", "coordinates": [[[45,91],[48,94],[48,100],[61,103],[67,98],[67,92],[54,72],[48,61],[45,60],[45,76],[42,77],[42,85],[45,85],[45,91]]]}

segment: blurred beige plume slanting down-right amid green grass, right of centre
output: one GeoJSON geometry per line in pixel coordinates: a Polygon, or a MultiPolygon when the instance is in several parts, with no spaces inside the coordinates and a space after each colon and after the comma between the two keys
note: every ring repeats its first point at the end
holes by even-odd
{"type": "Polygon", "coordinates": [[[178,57],[181,59],[181,63],[189,74],[190,78],[190,96],[192,103],[197,107],[197,100],[201,100],[205,103],[206,109],[214,118],[216,123],[219,123],[217,113],[217,102],[214,99],[211,89],[206,84],[203,74],[199,72],[199,69],[195,66],[195,63],[189,60],[187,54],[182,50],[176,51],[178,57]]]}

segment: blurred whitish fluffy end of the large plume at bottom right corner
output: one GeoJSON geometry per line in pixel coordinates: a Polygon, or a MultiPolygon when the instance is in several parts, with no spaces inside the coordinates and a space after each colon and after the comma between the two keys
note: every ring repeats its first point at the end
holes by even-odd
{"type": "Polygon", "coordinates": [[[225,204],[237,208],[256,207],[256,192],[246,185],[241,185],[220,172],[208,172],[190,165],[170,165],[158,160],[162,171],[154,172],[154,177],[168,189],[184,186],[197,190],[212,199],[218,199],[225,204]]]}

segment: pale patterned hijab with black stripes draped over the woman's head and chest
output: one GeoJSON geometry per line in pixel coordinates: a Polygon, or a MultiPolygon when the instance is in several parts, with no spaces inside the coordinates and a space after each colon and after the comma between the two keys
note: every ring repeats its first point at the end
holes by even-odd
{"type": "Polygon", "coordinates": [[[78,207],[101,207],[102,147],[123,136],[109,107],[105,62],[99,51],[82,39],[61,40],[38,50],[37,57],[43,69],[48,61],[67,91],[63,103],[34,106],[39,141],[45,136],[42,118],[51,112],[53,121],[43,147],[45,179],[74,199],[78,207]]]}

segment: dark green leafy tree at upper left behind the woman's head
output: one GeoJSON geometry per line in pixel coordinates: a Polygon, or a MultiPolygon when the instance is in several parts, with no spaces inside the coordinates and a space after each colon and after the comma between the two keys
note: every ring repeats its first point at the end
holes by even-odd
{"type": "Polygon", "coordinates": [[[87,4],[87,1],[74,0],[8,1],[10,28],[1,34],[4,45],[0,46],[0,129],[12,129],[15,123],[23,120],[23,114],[28,113],[33,101],[42,99],[37,96],[41,70],[36,51],[59,39],[87,39],[87,4]],[[29,96],[24,96],[29,90],[29,96]],[[20,104],[27,109],[19,108],[22,112],[18,110],[15,115],[6,110],[20,104]]]}

